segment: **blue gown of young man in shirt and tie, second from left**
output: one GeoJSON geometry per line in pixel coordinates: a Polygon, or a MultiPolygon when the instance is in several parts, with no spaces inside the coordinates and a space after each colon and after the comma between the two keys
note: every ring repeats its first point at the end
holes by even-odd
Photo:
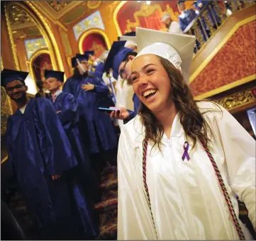
{"type": "Polygon", "coordinates": [[[56,112],[58,112],[57,116],[65,129],[72,150],[76,155],[78,166],[75,175],[78,175],[87,196],[92,198],[94,202],[99,201],[99,187],[96,183],[96,177],[91,167],[87,148],[85,148],[77,128],[79,115],[74,96],[62,92],[60,95],[57,95],[55,102],[53,102],[52,98],[50,98],[50,101],[55,106],[56,112]]]}

